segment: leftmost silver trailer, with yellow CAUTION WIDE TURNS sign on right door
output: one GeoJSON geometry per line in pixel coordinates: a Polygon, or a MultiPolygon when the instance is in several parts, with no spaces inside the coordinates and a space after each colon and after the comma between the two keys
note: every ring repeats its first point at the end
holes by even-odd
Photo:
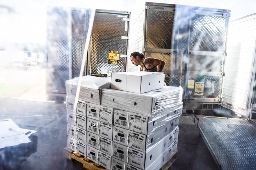
{"type": "Polygon", "coordinates": [[[46,100],[64,102],[65,80],[81,70],[103,77],[126,71],[130,12],[48,7],[47,14],[46,100]]]}

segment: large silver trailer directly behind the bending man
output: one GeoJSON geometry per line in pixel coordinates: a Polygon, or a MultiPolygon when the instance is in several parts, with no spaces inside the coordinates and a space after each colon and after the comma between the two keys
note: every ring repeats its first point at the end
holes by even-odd
{"type": "Polygon", "coordinates": [[[166,85],[184,88],[184,112],[220,109],[229,17],[225,9],[146,2],[131,26],[129,53],[166,62],[166,85]]]}

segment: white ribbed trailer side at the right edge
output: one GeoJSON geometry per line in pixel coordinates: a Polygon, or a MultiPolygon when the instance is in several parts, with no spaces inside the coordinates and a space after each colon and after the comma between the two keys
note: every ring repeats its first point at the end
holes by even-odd
{"type": "Polygon", "coordinates": [[[256,114],[256,14],[230,21],[222,106],[245,118],[256,114]]]}

